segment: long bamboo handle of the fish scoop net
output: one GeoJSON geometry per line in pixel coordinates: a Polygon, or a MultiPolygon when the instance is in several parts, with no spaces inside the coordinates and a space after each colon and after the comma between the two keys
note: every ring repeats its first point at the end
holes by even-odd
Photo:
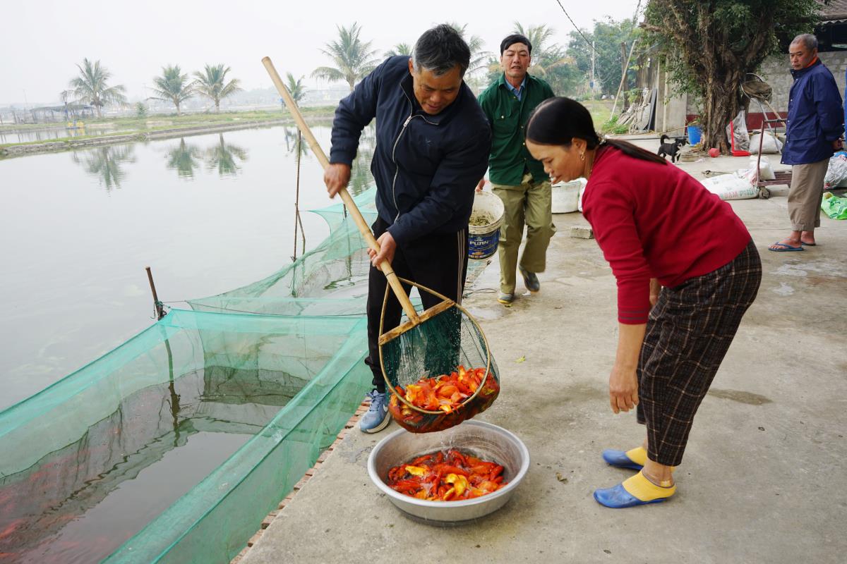
{"type": "MultiPolygon", "coordinates": [[[[300,131],[306,138],[306,142],[309,144],[309,147],[312,148],[312,152],[318,157],[318,162],[320,162],[321,166],[324,167],[324,170],[326,170],[326,168],[329,167],[329,159],[326,157],[324,150],[320,148],[320,145],[318,145],[318,140],[315,139],[315,136],[312,134],[312,130],[309,129],[309,126],[306,124],[306,120],[303,119],[303,116],[300,113],[300,108],[297,107],[294,99],[291,98],[291,93],[287,88],[285,88],[285,84],[283,84],[282,79],[280,79],[280,75],[277,74],[276,68],[274,68],[274,63],[271,63],[270,57],[264,57],[262,59],[262,64],[268,69],[268,74],[270,74],[270,78],[274,81],[276,90],[280,92],[280,96],[282,96],[285,100],[285,106],[287,106],[289,111],[291,111],[291,116],[294,118],[297,127],[300,128],[300,131]]],[[[371,233],[368,222],[365,221],[365,218],[362,216],[362,212],[359,211],[359,208],[357,207],[356,202],[353,201],[350,193],[347,192],[346,188],[342,188],[339,190],[338,194],[340,194],[341,200],[344,201],[347,209],[350,210],[350,214],[353,216],[353,221],[356,222],[356,226],[359,228],[359,233],[362,233],[363,238],[365,238],[365,242],[368,243],[368,247],[379,253],[379,243],[377,243],[374,238],[374,233],[371,233]]],[[[394,273],[394,269],[391,268],[391,263],[388,260],[383,260],[379,263],[379,270],[385,274],[391,289],[400,301],[403,311],[406,312],[409,320],[412,321],[414,325],[418,325],[418,323],[420,323],[418,313],[415,311],[415,307],[409,300],[406,291],[403,290],[403,285],[394,273]]]]}

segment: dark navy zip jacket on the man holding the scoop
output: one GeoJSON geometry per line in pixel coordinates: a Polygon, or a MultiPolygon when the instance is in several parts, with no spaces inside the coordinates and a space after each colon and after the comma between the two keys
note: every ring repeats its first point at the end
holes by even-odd
{"type": "Polygon", "coordinates": [[[488,121],[462,81],[456,100],[430,116],[412,90],[409,57],[390,57],[340,101],[330,162],[352,164],[362,130],[376,118],[371,172],[376,207],[398,245],[468,227],[473,194],[488,167],[488,121]]]}

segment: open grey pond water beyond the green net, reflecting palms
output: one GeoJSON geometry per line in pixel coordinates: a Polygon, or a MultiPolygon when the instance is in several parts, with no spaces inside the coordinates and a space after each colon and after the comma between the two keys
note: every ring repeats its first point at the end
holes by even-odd
{"type": "MultiPolygon", "coordinates": [[[[329,127],[313,132],[329,151],[329,127]]],[[[145,266],[177,302],[290,263],[296,139],[276,126],[0,160],[0,409],[149,326],[145,266]]],[[[372,182],[373,139],[367,129],[354,194],[372,182]]],[[[301,211],[335,203],[322,177],[304,149],[301,211]]],[[[329,234],[315,214],[302,222],[307,249],[329,234]]]]}

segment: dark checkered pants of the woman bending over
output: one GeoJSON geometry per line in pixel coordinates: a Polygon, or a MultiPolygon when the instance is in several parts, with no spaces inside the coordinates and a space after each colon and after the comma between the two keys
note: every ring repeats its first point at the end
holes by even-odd
{"type": "Polygon", "coordinates": [[[694,415],[756,298],[761,260],[750,244],[727,265],[662,288],[639,357],[638,421],[650,460],[678,466],[694,415]]]}

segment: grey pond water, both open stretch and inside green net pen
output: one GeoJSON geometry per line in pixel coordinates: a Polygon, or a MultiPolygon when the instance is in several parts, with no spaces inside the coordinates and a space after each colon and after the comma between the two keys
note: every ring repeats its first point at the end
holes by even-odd
{"type": "MultiPolygon", "coordinates": [[[[314,133],[329,148],[329,128],[314,133]]],[[[150,326],[145,266],[159,298],[179,302],[255,282],[302,254],[296,139],[277,126],[0,161],[0,410],[150,326]]],[[[354,194],[372,182],[372,140],[368,129],[354,194]]],[[[301,210],[330,205],[317,160],[301,152],[301,210]]],[[[329,234],[315,214],[302,224],[306,249],[329,234]]],[[[101,561],[307,381],[208,364],[121,397],[79,439],[0,473],[0,561],[101,561]]]]}

